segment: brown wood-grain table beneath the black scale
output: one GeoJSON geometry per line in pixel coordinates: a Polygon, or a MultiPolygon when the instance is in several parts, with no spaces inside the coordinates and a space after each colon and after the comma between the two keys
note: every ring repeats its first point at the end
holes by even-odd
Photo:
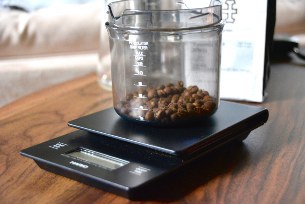
{"type": "MultiPolygon", "coordinates": [[[[171,184],[164,180],[148,202],[305,203],[305,66],[295,59],[272,64],[270,76],[264,103],[248,103],[269,110],[267,123],[242,144],[183,169],[171,184]]],[[[74,131],[67,121],[111,106],[112,94],[89,75],[1,107],[0,203],[134,203],[49,173],[19,154],[74,131]]]]}

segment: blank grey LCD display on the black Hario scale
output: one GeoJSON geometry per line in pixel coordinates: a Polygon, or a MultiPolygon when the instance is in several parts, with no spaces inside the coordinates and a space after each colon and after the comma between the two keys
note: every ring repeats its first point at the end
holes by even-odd
{"type": "Polygon", "coordinates": [[[66,155],[80,158],[82,160],[105,166],[110,169],[117,169],[121,166],[128,164],[129,162],[120,158],[116,158],[110,155],[106,155],[100,152],[92,151],[85,148],[77,148],[72,151],[66,152],[66,155]]]}

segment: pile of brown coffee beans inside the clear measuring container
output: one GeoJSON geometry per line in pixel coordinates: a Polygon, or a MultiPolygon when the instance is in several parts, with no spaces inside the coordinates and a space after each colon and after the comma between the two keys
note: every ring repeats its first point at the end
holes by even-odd
{"type": "Polygon", "coordinates": [[[177,85],[167,83],[127,93],[116,108],[128,118],[170,123],[210,115],[217,107],[207,91],[197,86],[185,88],[178,81],[177,85]]]}

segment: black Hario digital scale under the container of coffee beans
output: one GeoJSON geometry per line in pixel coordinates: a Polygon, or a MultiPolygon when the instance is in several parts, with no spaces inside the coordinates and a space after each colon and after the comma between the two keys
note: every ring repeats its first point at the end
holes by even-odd
{"type": "Polygon", "coordinates": [[[68,122],[75,132],[24,149],[41,169],[104,191],[138,199],[150,184],[232,140],[244,140],[263,125],[268,110],[221,100],[201,124],[138,125],[113,107],[68,122]]]}

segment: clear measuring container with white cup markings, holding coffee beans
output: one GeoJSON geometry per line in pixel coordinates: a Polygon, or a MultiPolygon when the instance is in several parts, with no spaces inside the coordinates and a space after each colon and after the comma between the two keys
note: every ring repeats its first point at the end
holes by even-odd
{"type": "MultiPolygon", "coordinates": [[[[204,1],[203,1],[204,2],[204,1]]],[[[222,4],[181,0],[108,5],[113,106],[149,125],[197,122],[219,106],[222,4]]]]}

